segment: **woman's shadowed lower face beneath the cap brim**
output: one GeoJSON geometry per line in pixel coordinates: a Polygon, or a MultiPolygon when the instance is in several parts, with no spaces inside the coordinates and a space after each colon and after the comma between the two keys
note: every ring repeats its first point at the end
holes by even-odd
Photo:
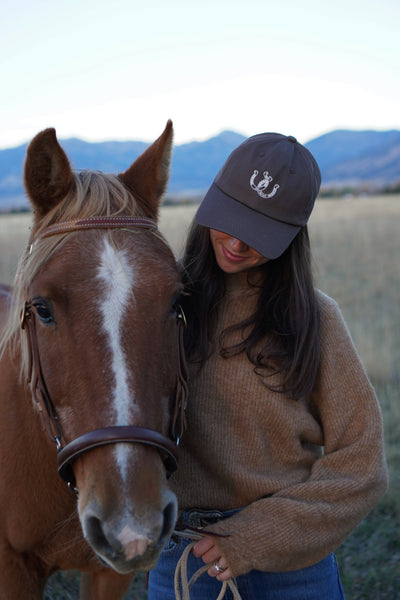
{"type": "Polygon", "coordinates": [[[218,266],[225,273],[242,273],[268,262],[268,258],[222,231],[210,229],[210,239],[218,266]]]}

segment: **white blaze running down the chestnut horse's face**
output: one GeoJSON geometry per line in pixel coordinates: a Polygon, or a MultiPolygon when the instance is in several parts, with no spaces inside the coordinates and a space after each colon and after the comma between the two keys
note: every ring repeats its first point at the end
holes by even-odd
{"type": "MultiPolygon", "coordinates": [[[[111,367],[114,373],[112,390],[114,425],[127,425],[132,421],[132,408],[135,404],[134,390],[129,389],[126,357],[121,345],[121,322],[129,302],[134,300],[134,286],[137,274],[129,262],[127,252],[118,251],[105,238],[101,252],[98,278],[101,280],[100,310],[103,328],[107,334],[111,354],[111,367]]],[[[132,450],[125,444],[115,448],[117,464],[123,480],[127,476],[127,456],[132,450]]]]}

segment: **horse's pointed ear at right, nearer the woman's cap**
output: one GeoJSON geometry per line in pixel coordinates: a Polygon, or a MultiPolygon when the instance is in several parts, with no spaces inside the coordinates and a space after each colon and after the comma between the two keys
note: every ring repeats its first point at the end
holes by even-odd
{"type": "Polygon", "coordinates": [[[161,196],[168,183],[173,126],[169,120],[160,137],[118,177],[131,190],[148,217],[157,219],[161,196]]]}

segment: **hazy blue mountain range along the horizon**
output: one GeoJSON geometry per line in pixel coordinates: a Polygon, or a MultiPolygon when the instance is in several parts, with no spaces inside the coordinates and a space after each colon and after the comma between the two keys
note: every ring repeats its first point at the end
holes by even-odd
{"type": "MultiPolygon", "coordinates": [[[[223,131],[174,148],[167,197],[201,197],[228,155],[245,137],[223,131]]],[[[124,171],[147,147],[141,141],[89,143],[60,140],[75,169],[124,171]]],[[[26,148],[0,150],[0,210],[28,206],[22,183],[26,148]]],[[[323,190],[380,191],[400,183],[400,131],[335,130],[307,142],[322,173],[323,190]]]]}

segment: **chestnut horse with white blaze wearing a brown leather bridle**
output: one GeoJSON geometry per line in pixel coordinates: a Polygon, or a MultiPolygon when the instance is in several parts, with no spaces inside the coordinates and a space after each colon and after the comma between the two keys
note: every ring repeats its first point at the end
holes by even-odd
{"type": "Polygon", "coordinates": [[[29,144],[33,209],[0,288],[0,597],[39,600],[56,571],[120,600],[177,516],[187,392],[182,284],[157,228],[173,126],[119,175],[74,171],[56,132],[29,144]],[[61,477],[60,477],[61,475],[61,477]]]}

